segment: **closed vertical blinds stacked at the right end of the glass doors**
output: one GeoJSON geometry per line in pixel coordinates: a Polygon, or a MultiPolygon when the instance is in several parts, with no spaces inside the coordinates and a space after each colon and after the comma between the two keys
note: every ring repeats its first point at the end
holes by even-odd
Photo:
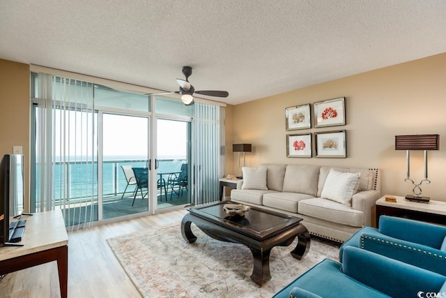
{"type": "Polygon", "coordinates": [[[221,108],[210,103],[195,103],[192,121],[195,204],[219,200],[221,108]]]}

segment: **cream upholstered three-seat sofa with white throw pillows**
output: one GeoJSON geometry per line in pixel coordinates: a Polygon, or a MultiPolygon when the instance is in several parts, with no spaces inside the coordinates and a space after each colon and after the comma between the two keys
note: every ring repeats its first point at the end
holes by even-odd
{"type": "Polygon", "coordinates": [[[237,188],[231,191],[232,201],[301,217],[310,234],[338,242],[346,241],[364,225],[371,225],[371,211],[380,198],[378,169],[263,164],[243,168],[243,177],[245,181],[238,181],[237,188]],[[250,170],[260,170],[261,174],[250,174],[250,170]],[[346,176],[350,179],[348,185],[356,179],[355,187],[348,200],[338,200],[338,190],[333,192],[330,187],[348,188],[339,183],[346,176]]]}

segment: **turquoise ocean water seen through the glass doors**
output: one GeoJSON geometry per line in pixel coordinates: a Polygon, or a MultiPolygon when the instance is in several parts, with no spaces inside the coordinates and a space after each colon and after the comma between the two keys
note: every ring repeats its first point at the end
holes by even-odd
{"type": "MultiPolygon", "coordinates": [[[[185,159],[171,158],[160,159],[158,171],[171,172],[180,171],[181,165],[185,163],[185,159]]],[[[113,160],[107,158],[102,167],[102,183],[103,195],[118,195],[123,193],[127,181],[121,165],[132,165],[132,167],[147,167],[147,161],[141,159],[130,160],[130,158],[113,160]]],[[[152,165],[153,166],[153,165],[152,165]]],[[[36,180],[39,179],[39,167],[36,167],[36,180]]],[[[69,163],[62,165],[56,163],[54,165],[54,176],[52,177],[53,195],[57,201],[62,198],[89,198],[91,194],[98,196],[98,164],[97,163],[69,163]]],[[[36,184],[37,186],[39,183],[36,184]]],[[[36,193],[39,193],[38,187],[36,193]]]]}

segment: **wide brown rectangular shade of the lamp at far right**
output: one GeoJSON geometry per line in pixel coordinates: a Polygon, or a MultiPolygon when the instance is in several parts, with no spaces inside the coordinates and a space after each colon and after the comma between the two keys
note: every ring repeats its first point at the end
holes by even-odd
{"type": "Polygon", "coordinates": [[[440,135],[395,135],[395,150],[438,150],[440,135]]]}

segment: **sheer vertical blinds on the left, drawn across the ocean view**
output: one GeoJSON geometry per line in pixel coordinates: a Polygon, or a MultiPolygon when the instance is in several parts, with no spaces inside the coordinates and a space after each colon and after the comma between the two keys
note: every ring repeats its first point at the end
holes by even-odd
{"type": "Polygon", "coordinates": [[[36,211],[61,209],[71,230],[97,218],[93,83],[38,73],[36,211]]]}

